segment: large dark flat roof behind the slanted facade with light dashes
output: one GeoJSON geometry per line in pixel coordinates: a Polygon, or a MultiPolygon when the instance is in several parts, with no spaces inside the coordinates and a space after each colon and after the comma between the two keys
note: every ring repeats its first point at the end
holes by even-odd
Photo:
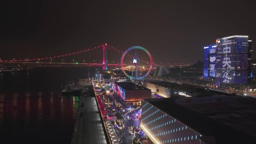
{"type": "Polygon", "coordinates": [[[256,138],[256,99],[241,96],[144,99],[216,144],[251,144],[256,138]]]}

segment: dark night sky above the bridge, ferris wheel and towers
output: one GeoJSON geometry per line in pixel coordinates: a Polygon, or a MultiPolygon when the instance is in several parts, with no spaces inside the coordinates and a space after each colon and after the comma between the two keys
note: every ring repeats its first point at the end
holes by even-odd
{"type": "MultiPolygon", "coordinates": [[[[121,50],[143,46],[155,62],[195,63],[216,38],[248,35],[256,45],[255,0],[159,1],[1,3],[0,58],[52,56],[107,42],[121,50]]],[[[101,56],[100,50],[82,55],[86,61],[101,56]]]]}

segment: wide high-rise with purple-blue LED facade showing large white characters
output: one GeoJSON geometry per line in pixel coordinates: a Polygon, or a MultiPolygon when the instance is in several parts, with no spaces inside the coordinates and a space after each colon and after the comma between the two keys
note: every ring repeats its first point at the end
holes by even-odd
{"type": "Polygon", "coordinates": [[[248,36],[216,40],[216,86],[248,83],[248,36]]]}

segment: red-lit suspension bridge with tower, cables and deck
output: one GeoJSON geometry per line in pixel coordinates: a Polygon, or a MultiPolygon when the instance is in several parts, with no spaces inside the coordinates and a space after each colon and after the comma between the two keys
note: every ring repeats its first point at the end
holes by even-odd
{"type": "MultiPolygon", "coordinates": [[[[107,69],[107,67],[117,67],[120,66],[120,64],[108,64],[107,63],[107,49],[110,49],[116,53],[119,53],[122,55],[124,52],[113,48],[113,46],[107,45],[107,43],[101,45],[101,46],[96,46],[94,48],[90,49],[84,49],[81,51],[77,52],[72,52],[72,53],[67,53],[67,54],[61,54],[61,55],[55,55],[55,56],[47,56],[47,57],[41,57],[41,58],[26,58],[26,59],[12,59],[12,60],[2,60],[0,59],[0,67],[88,67],[88,66],[102,66],[103,69],[107,69]],[[83,62],[64,62],[63,59],[64,57],[68,56],[73,56],[73,55],[79,55],[80,53],[85,53],[90,50],[94,49],[103,49],[103,59],[102,63],[86,63],[85,60],[83,62]],[[54,62],[55,59],[58,59],[60,62],[54,62]]],[[[132,55],[127,54],[130,58],[133,58],[132,55]]],[[[141,62],[145,64],[150,64],[148,61],[144,61],[143,59],[139,59],[141,62]]]]}

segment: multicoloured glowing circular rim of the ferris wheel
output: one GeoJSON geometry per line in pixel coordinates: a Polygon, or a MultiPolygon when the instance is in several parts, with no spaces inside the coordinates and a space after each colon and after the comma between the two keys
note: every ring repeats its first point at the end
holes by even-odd
{"type": "Polygon", "coordinates": [[[124,70],[124,57],[125,57],[126,53],[128,53],[128,52],[129,52],[130,50],[132,50],[132,49],[141,49],[141,50],[144,50],[144,51],[147,53],[147,55],[149,56],[149,58],[150,58],[150,67],[149,67],[149,71],[147,71],[147,73],[146,73],[144,76],[141,76],[141,77],[138,77],[138,78],[137,78],[138,80],[139,80],[139,79],[143,79],[144,77],[146,77],[147,75],[149,75],[149,73],[150,73],[150,71],[151,71],[151,69],[152,69],[152,66],[153,66],[153,60],[152,60],[152,57],[151,57],[149,51],[147,51],[145,48],[143,48],[143,47],[141,47],[141,46],[132,46],[131,48],[125,50],[125,52],[123,53],[122,58],[121,58],[121,69],[122,69],[122,71],[124,72],[124,74],[125,74],[127,77],[129,77],[130,79],[136,79],[135,77],[132,77],[132,76],[130,76],[129,74],[127,74],[127,73],[125,72],[125,70],[124,70]]]}

